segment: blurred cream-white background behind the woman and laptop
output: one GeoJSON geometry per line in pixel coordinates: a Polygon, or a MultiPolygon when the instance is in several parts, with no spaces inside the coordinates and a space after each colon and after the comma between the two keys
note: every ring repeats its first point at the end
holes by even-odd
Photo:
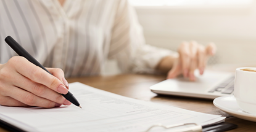
{"type": "MultiPolygon", "coordinates": [[[[182,41],[215,42],[209,65],[256,64],[256,0],[129,0],[146,43],[177,50],[182,41]]],[[[105,75],[118,74],[110,60],[105,75]]]]}

